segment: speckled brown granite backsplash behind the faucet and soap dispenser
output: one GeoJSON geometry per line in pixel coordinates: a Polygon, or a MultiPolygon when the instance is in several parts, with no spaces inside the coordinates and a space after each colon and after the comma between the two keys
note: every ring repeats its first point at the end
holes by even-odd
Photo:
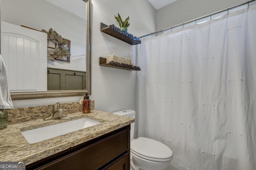
{"type": "MultiPolygon", "coordinates": [[[[53,104],[8,110],[8,124],[48,117],[52,113],[52,106],[53,104]]],[[[60,108],[64,109],[64,114],[77,113],[82,111],[82,106],[79,104],[79,102],[60,103],[60,108]]],[[[94,100],[91,100],[91,110],[94,110],[94,100]]]]}

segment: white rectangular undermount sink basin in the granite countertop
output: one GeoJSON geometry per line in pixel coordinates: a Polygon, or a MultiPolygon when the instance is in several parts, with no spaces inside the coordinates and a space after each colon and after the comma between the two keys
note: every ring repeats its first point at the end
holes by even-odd
{"type": "Polygon", "coordinates": [[[86,127],[98,125],[100,122],[82,118],[72,121],[59,123],[56,125],[49,125],[45,127],[39,127],[38,129],[32,129],[22,132],[22,135],[26,138],[28,143],[37,143],[46,139],[51,139],[60,135],[64,135],[70,132],[78,131],[86,127]]]}

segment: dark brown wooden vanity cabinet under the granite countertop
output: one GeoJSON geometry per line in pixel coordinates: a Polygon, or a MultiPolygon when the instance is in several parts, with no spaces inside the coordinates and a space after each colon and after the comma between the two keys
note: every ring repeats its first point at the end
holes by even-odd
{"type": "Polygon", "coordinates": [[[130,125],[26,166],[35,169],[130,170],[130,125]]]}

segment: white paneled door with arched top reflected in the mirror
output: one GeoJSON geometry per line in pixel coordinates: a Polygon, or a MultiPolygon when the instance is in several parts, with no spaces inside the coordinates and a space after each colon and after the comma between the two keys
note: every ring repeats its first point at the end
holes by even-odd
{"type": "Polygon", "coordinates": [[[47,90],[47,34],[1,21],[10,92],[47,90]]]}

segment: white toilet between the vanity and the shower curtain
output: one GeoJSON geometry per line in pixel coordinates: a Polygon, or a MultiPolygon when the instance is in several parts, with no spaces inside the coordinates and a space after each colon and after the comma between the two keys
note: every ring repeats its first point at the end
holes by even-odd
{"type": "MultiPolygon", "coordinates": [[[[135,118],[131,109],[114,112],[114,114],[135,118]]],[[[146,137],[134,137],[134,125],[130,130],[131,170],[166,170],[172,160],[172,150],[163,143],[146,137]]]]}

